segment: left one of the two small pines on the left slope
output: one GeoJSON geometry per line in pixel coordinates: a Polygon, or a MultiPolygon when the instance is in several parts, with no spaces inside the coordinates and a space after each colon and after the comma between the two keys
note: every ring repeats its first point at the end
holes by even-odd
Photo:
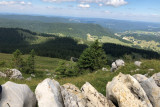
{"type": "Polygon", "coordinates": [[[22,53],[18,49],[13,53],[12,65],[13,65],[13,67],[17,68],[18,70],[22,70],[23,66],[24,66],[24,61],[23,61],[21,55],[22,55],[22,53]]]}

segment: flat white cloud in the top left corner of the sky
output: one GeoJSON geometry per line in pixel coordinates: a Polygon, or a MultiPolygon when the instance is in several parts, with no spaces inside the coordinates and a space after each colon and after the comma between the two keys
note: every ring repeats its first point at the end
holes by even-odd
{"type": "Polygon", "coordinates": [[[0,5],[31,5],[31,2],[24,1],[0,1],[0,5]]]}

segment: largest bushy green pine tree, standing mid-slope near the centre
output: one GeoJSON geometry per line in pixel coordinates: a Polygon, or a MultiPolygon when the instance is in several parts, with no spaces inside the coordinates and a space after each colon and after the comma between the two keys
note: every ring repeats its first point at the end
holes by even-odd
{"type": "MultiPolygon", "coordinates": [[[[78,60],[78,67],[82,70],[94,70],[104,67],[107,57],[102,46],[96,40],[89,48],[85,49],[78,60]]],[[[80,70],[80,71],[81,71],[80,70]]]]}

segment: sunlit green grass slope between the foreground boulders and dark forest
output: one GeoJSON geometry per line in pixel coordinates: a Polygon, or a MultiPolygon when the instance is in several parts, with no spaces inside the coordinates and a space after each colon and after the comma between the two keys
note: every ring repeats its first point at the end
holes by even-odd
{"type": "MultiPolygon", "coordinates": [[[[11,55],[9,54],[0,54],[0,61],[10,61],[11,60],[11,55]]],[[[58,66],[58,62],[62,61],[60,59],[55,59],[55,58],[47,58],[47,57],[36,57],[36,70],[41,70],[45,71],[45,69],[48,69],[49,72],[54,72],[56,69],[56,66],[58,66]]],[[[149,75],[152,75],[156,72],[160,71],[160,60],[142,60],[142,66],[141,67],[136,67],[133,62],[127,63],[124,67],[121,67],[117,72],[104,72],[101,70],[98,70],[97,72],[94,73],[89,73],[89,74],[84,74],[78,77],[68,77],[68,78],[62,78],[62,79],[56,79],[57,81],[60,82],[60,84],[65,84],[65,83],[73,83],[79,88],[86,82],[90,82],[99,92],[103,93],[105,95],[106,93],[106,84],[107,82],[111,81],[112,78],[116,75],[118,75],[119,72],[125,73],[125,74],[146,74],[149,72],[148,69],[154,69],[154,71],[150,71],[149,75]],[[136,70],[140,69],[137,72],[130,72],[131,70],[136,70]],[[74,81],[73,81],[74,80],[74,81]]],[[[66,63],[69,63],[69,61],[66,61],[66,63]]],[[[108,68],[110,69],[110,68],[108,68]]],[[[39,72],[42,73],[42,72],[39,72]]],[[[29,75],[24,75],[25,78],[29,77],[29,75]]],[[[21,83],[21,84],[27,84],[29,87],[34,91],[36,88],[37,84],[40,83],[42,80],[47,78],[47,76],[36,76],[36,78],[33,78],[32,81],[25,81],[25,80],[11,80],[16,83],[21,83]]],[[[0,84],[5,83],[8,81],[7,78],[0,78],[0,84]]]]}

